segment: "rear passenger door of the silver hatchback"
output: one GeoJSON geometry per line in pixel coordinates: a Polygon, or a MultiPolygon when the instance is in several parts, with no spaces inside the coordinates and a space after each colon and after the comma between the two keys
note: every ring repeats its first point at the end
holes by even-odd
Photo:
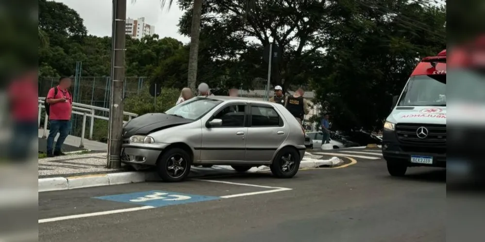
{"type": "Polygon", "coordinates": [[[246,161],[267,163],[288,136],[288,126],[270,105],[250,104],[246,161]]]}

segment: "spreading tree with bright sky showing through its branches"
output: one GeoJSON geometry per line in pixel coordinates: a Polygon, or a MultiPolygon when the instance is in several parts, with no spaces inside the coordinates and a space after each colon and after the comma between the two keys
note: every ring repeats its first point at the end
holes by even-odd
{"type": "MultiPolygon", "coordinates": [[[[181,7],[186,8],[190,2],[181,0],[181,7]]],[[[250,12],[247,8],[245,0],[204,2],[201,46],[214,60],[227,65],[226,81],[237,78],[247,85],[255,78],[266,79],[263,47],[276,43],[283,49],[283,58],[273,65],[271,84],[287,90],[292,84],[306,83],[322,53],[323,33],[329,25],[325,20],[328,7],[320,0],[305,0],[263,1],[251,6],[250,12]]],[[[190,17],[190,12],[185,12],[179,23],[181,33],[186,35],[190,34],[190,17]]]]}

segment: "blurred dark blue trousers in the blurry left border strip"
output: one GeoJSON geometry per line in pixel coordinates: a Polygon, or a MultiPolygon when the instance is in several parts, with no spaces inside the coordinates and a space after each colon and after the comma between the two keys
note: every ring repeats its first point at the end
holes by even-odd
{"type": "Polygon", "coordinates": [[[12,128],[14,133],[10,140],[10,158],[25,159],[31,154],[31,145],[38,135],[37,121],[16,121],[12,128]]]}

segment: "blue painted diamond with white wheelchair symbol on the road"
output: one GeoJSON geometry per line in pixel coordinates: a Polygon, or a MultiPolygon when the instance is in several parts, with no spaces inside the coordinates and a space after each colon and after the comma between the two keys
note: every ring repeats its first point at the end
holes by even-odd
{"type": "Polygon", "coordinates": [[[191,194],[172,193],[166,191],[146,191],[93,198],[115,202],[134,203],[138,205],[152,207],[164,207],[169,205],[220,199],[220,197],[199,196],[191,194]]]}

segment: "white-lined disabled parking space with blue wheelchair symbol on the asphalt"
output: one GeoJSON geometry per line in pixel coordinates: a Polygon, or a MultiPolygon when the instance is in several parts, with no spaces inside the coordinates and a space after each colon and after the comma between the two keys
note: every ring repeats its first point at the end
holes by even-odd
{"type": "MultiPolygon", "coordinates": [[[[252,173],[256,175],[256,173],[252,173]]],[[[264,180],[268,179],[262,175],[264,180]]],[[[39,194],[39,224],[125,212],[185,206],[203,206],[207,202],[258,196],[292,190],[291,188],[208,179],[190,179],[158,190],[158,182],[132,183],[107,187],[81,188],[39,194]],[[69,196],[72,195],[72,196],[69,196]]],[[[263,182],[263,183],[266,183],[263,182]]]]}

